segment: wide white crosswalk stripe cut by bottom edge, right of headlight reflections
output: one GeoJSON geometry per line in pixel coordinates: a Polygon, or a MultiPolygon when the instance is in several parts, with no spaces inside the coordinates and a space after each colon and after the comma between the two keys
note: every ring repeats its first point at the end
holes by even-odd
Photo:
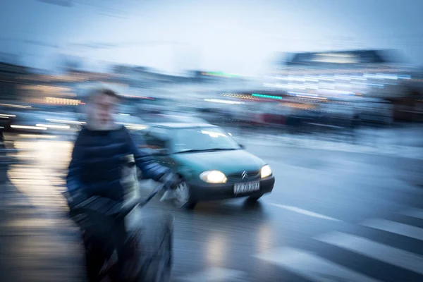
{"type": "Polygon", "coordinates": [[[350,282],[377,282],[374,278],[360,274],[357,271],[331,262],[322,257],[297,250],[293,247],[283,247],[278,250],[255,255],[272,264],[283,266],[310,281],[350,281],[350,282]]]}

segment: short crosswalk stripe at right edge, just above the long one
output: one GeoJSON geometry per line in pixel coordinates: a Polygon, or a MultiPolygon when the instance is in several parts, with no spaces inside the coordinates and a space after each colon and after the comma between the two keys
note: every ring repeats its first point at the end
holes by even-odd
{"type": "Polygon", "coordinates": [[[417,240],[423,240],[423,228],[396,221],[388,221],[386,219],[368,219],[360,225],[379,229],[381,231],[396,233],[410,238],[415,238],[417,240]]]}

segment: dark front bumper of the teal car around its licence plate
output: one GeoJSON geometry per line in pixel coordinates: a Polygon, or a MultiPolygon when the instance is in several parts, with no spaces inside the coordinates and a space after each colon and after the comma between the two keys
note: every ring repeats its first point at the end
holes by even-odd
{"type": "Polygon", "coordinates": [[[274,176],[262,178],[260,189],[254,192],[234,193],[235,183],[209,184],[202,182],[188,183],[190,188],[190,202],[225,200],[237,197],[259,197],[273,190],[274,176]]]}

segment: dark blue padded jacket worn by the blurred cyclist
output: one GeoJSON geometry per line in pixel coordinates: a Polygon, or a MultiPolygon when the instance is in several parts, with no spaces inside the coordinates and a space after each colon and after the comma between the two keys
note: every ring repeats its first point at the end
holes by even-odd
{"type": "Polygon", "coordinates": [[[159,180],[169,171],[169,168],[157,164],[149,154],[138,149],[123,126],[115,130],[82,128],[69,165],[66,179],[68,191],[82,189],[87,197],[123,201],[121,171],[128,154],[133,154],[135,164],[145,178],[159,180]]]}

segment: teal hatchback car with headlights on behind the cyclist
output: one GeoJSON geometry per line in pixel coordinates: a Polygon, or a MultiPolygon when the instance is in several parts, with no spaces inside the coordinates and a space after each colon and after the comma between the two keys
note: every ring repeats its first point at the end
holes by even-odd
{"type": "Polygon", "coordinates": [[[178,207],[192,209],[200,201],[236,197],[257,201],[274,188],[270,166],[219,126],[159,123],[142,132],[142,147],[183,179],[176,188],[178,207]]]}

